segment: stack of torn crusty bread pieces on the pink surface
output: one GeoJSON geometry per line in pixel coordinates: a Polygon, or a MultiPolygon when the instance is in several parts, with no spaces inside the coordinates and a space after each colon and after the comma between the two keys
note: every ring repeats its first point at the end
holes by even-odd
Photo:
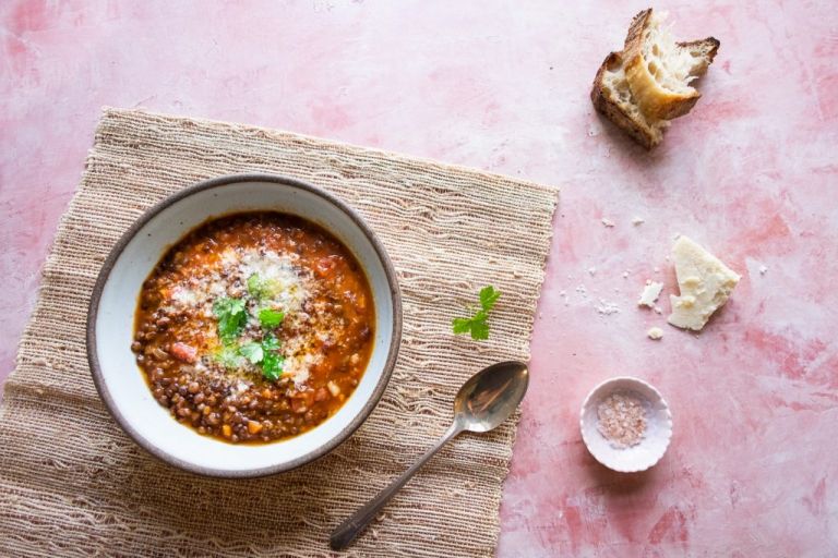
{"type": "MultiPolygon", "coordinates": [[[[666,85],[661,85],[648,72],[648,64],[641,64],[637,60],[645,60],[644,37],[659,36],[660,20],[654,16],[653,10],[644,10],[635,15],[625,39],[625,48],[622,52],[611,52],[600,65],[594,80],[590,99],[594,107],[606,118],[614,122],[620,129],[628,133],[637,143],[651,149],[663,138],[663,130],[669,126],[669,120],[686,113],[698,100],[698,92],[690,87],[690,81],[703,75],[710,65],[719,49],[719,41],[713,37],[687,43],[671,41],[667,35],[667,48],[674,63],[663,65],[658,70],[665,75],[666,85]],[[628,72],[628,63],[633,62],[632,75],[628,72]],[[644,69],[648,75],[644,76],[644,69]],[[683,81],[675,83],[679,75],[683,81]],[[653,83],[649,83],[651,76],[653,83]],[[634,83],[632,83],[634,81],[634,83]],[[672,87],[671,89],[669,87],[672,87]],[[639,94],[639,95],[638,95],[639,94]],[[641,100],[643,99],[643,100],[641,100]]],[[[660,39],[662,40],[662,39],[660,39]]],[[[648,43],[648,52],[651,57],[659,57],[661,46],[648,43]]]]}

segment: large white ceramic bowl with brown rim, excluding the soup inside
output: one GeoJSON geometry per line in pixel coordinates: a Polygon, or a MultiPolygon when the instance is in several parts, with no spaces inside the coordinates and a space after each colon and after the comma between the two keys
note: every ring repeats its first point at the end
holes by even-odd
{"type": "Polygon", "coordinates": [[[349,437],[381,399],[402,336],[402,303],[384,247],[346,204],[304,182],[265,174],[223,177],[187,187],[148,209],[105,262],[91,299],[87,357],[93,380],[117,423],[161,460],[199,474],[248,477],[279,473],[318,459],[349,437]],[[344,405],[300,436],[232,445],[175,421],[155,401],[131,352],[143,281],[168,246],[213,217],[253,210],[294,214],[328,230],[355,254],[375,304],[375,339],[361,381],[344,405]]]}

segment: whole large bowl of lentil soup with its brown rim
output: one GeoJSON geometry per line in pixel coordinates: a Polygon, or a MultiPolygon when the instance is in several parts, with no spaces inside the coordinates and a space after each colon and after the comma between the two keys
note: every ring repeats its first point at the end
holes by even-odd
{"type": "Polygon", "coordinates": [[[123,234],[91,299],[87,355],[141,447],[247,477],[349,437],[400,331],[393,265],[360,216],[306,182],[244,174],[187,187],[123,234]]]}

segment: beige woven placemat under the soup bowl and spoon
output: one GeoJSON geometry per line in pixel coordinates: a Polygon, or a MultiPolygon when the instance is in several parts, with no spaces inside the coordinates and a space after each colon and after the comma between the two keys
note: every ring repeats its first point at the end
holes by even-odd
{"type": "MultiPolygon", "coordinates": [[[[482,366],[528,359],[554,189],[264,129],[106,109],[61,219],[0,409],[0,556],[331,556],[331,530],[418,458],[482,366]],[[135,446],[105,410],[85,356],[103,260],[151,205],[222,174],[272,172],[358,209],[404,296],[390,386],[327,457],[259,480],[204,478],[135,446]],[[491,339],[451,319],[480,287],[503,292],[491,339]]],[[[127,371],[131,373],[131,371],[127,371]]],[[[347,555],[490,556],[515,435],[464,435],[438,454],[347,555]]]]}

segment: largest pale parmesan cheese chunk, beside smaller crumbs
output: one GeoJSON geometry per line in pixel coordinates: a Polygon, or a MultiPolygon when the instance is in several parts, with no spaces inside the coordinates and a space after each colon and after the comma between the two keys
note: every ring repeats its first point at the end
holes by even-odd
{"type": "Polygon", "coordinates": [[[669,296],[672,303],[669,323],[698,331],[713,313],[728,302],[740,276],[686,236],[675,241],[672,257],[681,295],[669,296]]]}

